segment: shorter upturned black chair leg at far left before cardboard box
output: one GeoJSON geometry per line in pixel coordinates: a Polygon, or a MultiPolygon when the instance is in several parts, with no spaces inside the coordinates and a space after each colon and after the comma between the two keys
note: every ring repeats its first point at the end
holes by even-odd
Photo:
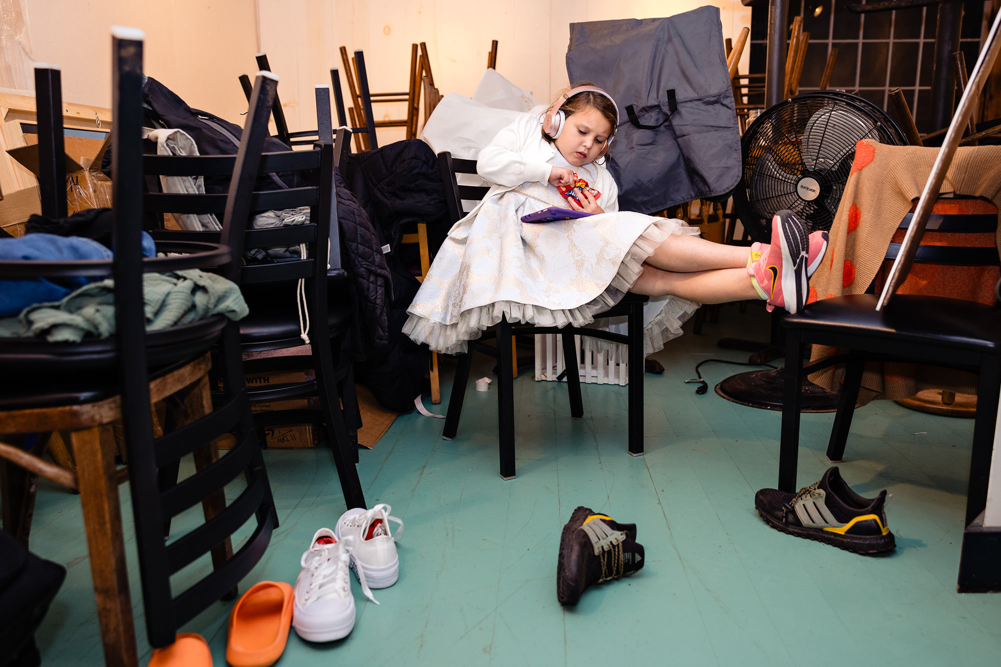
{"type": "Polygon", "coordinates": [[[66,157],[62,126],[62,78],[58,68],[35,67],[38,121],[38,195],[42,215],[66,217],[66,157]]]}

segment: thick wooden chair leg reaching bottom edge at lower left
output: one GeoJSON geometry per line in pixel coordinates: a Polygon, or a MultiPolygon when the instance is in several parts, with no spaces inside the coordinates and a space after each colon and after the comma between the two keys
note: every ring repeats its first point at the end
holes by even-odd
{"type": "Polygon", "coordinates": [[[114,450],[102,444],[97,428],[74,432],[70,439],[76,459],[104,662],[112,667],[134,667],[138,664],[138,656],[114,450]]]}

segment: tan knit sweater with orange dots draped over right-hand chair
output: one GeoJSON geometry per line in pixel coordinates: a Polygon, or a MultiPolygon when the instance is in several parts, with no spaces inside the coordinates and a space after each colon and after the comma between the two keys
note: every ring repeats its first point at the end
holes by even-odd
{"type": "MultiPolygon", "coordinates": [[[[858,142],[831,226],[827,256],[810,280],[807,302],[865,292],[883,263],[900,221],[920,196],[938,150],[887,146],[872,139],[858,142]]],[[[1001,146],[958,148],[940,192],[987,197],[1001,210],[1001,146]]],[[[1001,225],[997,245],[1001,248],[1001,225]]],[[[831,348],[814,346],[812,357],[816,360],[836,353],[831,348]]],[[[975,393],[975,378],[963,375],[966,377],[943,376],[912,365],[870,364],[862,380],[859,402],[906,399],[933,388],[975,393]],[[949,382],[952,386],[945,386],[949,382]]],[[[841,377],[842,372],[828,370],[814,374],[810,380],[834,391],[841,377]]]]}

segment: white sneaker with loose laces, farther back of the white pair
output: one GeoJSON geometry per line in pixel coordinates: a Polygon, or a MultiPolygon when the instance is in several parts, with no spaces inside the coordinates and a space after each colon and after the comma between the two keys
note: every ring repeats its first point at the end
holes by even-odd
{"type": "Polygon", "coordinates": [[[365,579],[372,588],[389,588],[399,579],[396,540],[403,534],[403,522],[389,516],[391,509],[385,503],[370,510],[356,507],[340,515],[334,529],[338,540],[353,538],[351,569],[358,581],[365,579]],[[399,524],[394,536],[390,521],[399,524]]]}

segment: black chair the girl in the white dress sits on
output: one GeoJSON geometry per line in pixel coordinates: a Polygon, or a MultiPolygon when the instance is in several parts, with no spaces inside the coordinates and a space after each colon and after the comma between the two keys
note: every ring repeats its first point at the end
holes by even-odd
{"type": "MultiPolygon", "coordinates": [[[[467,210],[463,202],[474,204],[486,194],[488,187],[476,185],[459,185],[456,174],[475,174],[475,160],[453,158],[449,152],[438,153],[438,164],[441,169],[441,182],[444,185],[444,197],[448,204],[448,213],[454,224],[461,219],[467,210]]],[[[643,456],[643,305],[649,299],[640,294],[627,293],[613,308],[596,314],[595,317],[628,317],[628,332],[612,333],[595,328],[579,328],[574,326],[535,326],[508,321],[502,316],[493,330],[486,331],[479,341],[470,341],[470,351],[458,359],[455,378],[451,386],[451,398],[448,400],[448,412],[445,416],[444,431],[441,435],[445,440],[452,440],[458,431],[458,420],[462,413],[462,401],[469,381],[469,368],[472,364],[472,351],[488,355],[497,360],[497,420],[499,426],[500,477],[505,480],[515,479],[515,386],[512,359],[512,337],[516,333],[560,333],[563,341],[564,359],[567,363],[567,390],[570,392],[570,409],[573,419],[584,417],[584,400],[581,397],[581,379],[577,372],[577,347],[575,336],[590,336],[613,343],[629,346],[629,453],[635,457],[643,456]],[[483,340],[494,339],[495,347],[482,343],[483,340]]]]}

